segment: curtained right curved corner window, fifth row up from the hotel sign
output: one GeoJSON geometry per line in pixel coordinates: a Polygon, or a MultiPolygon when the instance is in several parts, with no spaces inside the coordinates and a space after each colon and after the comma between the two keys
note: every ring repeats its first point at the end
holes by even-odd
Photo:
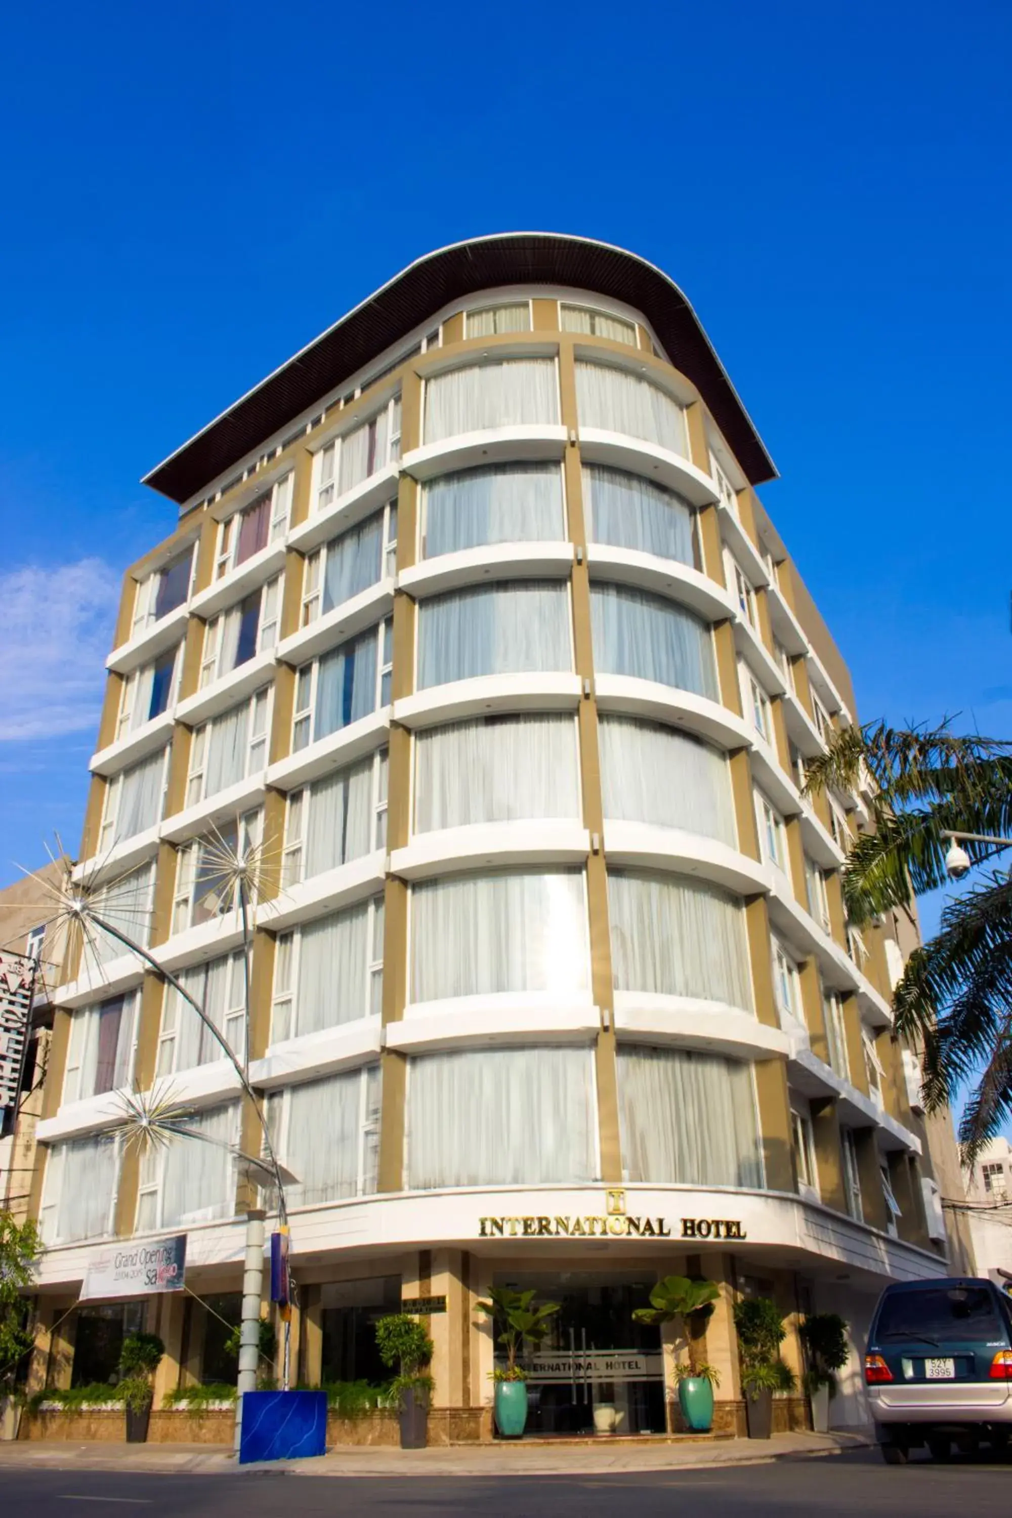
{"type": "Polygon", "coordinates": [[[622,469],[584,465],[583,512],[592,543],[637,548],[683,565],[695,562],[692,507],[674,490],[622,469]]]}

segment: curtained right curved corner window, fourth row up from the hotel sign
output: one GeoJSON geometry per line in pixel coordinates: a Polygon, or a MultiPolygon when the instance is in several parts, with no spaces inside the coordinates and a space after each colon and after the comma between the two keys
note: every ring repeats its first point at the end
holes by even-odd
{"type": "Polygon", "coordinates": [[[643,591],[590,586],[598,674],[630,674],[719,700],[710,628],[684,607],[643,591]]]}

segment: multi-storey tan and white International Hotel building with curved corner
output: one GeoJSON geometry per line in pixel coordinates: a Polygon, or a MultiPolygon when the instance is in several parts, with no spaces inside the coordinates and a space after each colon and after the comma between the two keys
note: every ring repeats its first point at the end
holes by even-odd
{"type": "MultiPolygon", "coordinates": [[[[77,870],[249,1040],[303,1381],[379,1377],[372,1321],[422,1298],[434,1438],[490,1438],[475,1301],[536,1286],[563,1313],[528,1428],[605,1400],[658,1431],[677,1345],[631,1312],[689,1271],[733,1427],[740,1293],[798,1369],[798,1313],[860,1345],[886,1281],[963,1263],[895,924],[844,915],[868,797],[801,794],[857,718],[774,477],[677,285],[540,234],[419,260],[147,475],[178,522],[124,580],[77,870]],[[220,836],[267,859],[249,1025],[220,836]]],[[[35,1374],[86,1381],[146,1316],[159,1390],[220,1380],[249,1204],[220,1143],[256,1117],[185,1002],[97,949],[55,994],[35,1374]],[[117,1093],[159,1081],[217,1146],[120,1154],[117,1093]],[[211,1313],[64,1318],[109,1240],[176,1233],[211,1313]]]]}

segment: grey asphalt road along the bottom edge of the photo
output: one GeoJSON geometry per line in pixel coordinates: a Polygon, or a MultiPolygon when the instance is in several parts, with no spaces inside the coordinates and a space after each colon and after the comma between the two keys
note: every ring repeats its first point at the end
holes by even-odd
{"type": "Polygon", "coordinates": [[[0,1509],[30,1518],[300,1518],[316,1513],[442,1518],[951,1518],[1007,1512],[1012,1463],[912,1460],[891,1468],[875,1451],[780,1460],[713,1471],[613,1477],[517,1477],[472,1480],[247,1475],[137,1475],[102,1471],[3,1472],[0,1509]]]}

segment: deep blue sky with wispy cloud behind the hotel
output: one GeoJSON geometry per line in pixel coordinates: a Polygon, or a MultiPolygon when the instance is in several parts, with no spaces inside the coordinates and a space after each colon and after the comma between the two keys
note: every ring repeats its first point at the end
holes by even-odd
{"type": "MultiPolygon", "coordinates": [[[[1007,5],[20,6],[0,132],[0,883],[77,846],[140,475],[431,247],[686,290],[863,718],[1012,736],[1007,5]]],[[[929,920],[932,912],[929,911],[929,920]]]]}

